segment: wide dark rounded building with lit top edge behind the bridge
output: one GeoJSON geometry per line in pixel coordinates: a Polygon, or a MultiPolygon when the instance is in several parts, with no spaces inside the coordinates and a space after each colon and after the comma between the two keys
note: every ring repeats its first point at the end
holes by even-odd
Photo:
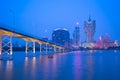
{"type": "Polygon", "coordinates": [[[67,29],[58,28],[52,33],[52,41],[64,46],[68,46],[70,41],[70,33],[67,29]]]}

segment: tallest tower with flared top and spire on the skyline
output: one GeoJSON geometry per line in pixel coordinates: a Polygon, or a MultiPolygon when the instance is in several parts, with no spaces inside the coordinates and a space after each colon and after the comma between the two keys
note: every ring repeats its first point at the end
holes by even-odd
{"type": "Polygon", "coordinates": [[[86,42],[93,43],[94,35],[95,35],[95,31],[96,31],[96,21],[91,20],[90,16],[89,16],[88,21],[84,22],[84,31],[85,31],[85,35],[86,35],[86,42]]]}

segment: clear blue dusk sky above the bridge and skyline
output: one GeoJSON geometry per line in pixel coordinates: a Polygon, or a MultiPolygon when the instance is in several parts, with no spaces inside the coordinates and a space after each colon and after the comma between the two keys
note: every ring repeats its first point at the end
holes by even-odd
{"type": "Polygon", "coordinates": [[[0,0],[0,24],[51,38],[55,28],[67,28],[72,34],[79,22],[84,41],[84,21],[91,14],[97,24],[95,39],[108,33],[112,40],[120,40],[119,5],[119,0],[0,0]]]}

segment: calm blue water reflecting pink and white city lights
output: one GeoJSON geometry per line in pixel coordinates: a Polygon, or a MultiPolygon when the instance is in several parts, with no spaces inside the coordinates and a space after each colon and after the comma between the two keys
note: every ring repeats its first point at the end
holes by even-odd
{"type": "Polygon", "coordinates": [[[0,80],[120,80],[120,51],[76,51],[35,57],[14,52],[0,61],[0,80]]]}

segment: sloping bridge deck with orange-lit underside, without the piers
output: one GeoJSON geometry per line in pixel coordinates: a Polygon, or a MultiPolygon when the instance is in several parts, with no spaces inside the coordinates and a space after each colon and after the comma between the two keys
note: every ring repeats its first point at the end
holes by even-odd
{"type": "Polygon", "coordinates": [[[17,32],[15,30],[3,28],[1,26],[0,26],[0,35],[13,36],[13,37],[20,38],[20,39],[23,39],[23,40],[26,40],[26,41],[37,42],[39,44],[48,44],[50,46],[56,46],[58,48],[63,48],[63,46],[55,44],[53,42],[48,42],[48,41],[30,36],[30,35],[26,35],[26,34],[17,32]]]}

